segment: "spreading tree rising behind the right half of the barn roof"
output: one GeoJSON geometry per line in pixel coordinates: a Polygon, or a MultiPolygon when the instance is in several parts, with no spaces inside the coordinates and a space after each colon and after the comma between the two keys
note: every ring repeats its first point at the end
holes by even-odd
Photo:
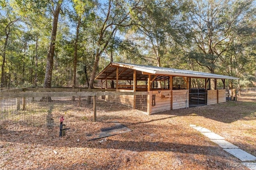
{"type": "MultiPolygon", "coordinates": [[[[244,17],[252,0],[191,0],[187,27],[196,45],[190,58],[215,73],[216,63],[232,42],[237,20],[244,17]]],[[[214,89],[214,81],[211,83],[214,89]]]]}

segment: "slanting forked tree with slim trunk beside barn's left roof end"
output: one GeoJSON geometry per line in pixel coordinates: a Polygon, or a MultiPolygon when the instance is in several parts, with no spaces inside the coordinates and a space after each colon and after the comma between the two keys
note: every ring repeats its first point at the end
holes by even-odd
{"type": "Polygon", "coordinates": [[[94,78],[98,69],[98,62],[101,54],[105,51],[109,42],[113,39],[116,30],[121,27],[132,25],[130,20],[130,12],[138,6],[138,2],[132,0],[109,0],[107,4],[100,8],[99,15],[94,20],[94,36],[95,36],[95,55],[90,76],[89,89],[93,88],[94,78]]]}

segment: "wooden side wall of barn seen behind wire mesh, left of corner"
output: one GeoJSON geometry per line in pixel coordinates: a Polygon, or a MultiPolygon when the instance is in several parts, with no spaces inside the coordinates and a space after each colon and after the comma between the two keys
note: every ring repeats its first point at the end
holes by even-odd
{"type": "MultiPolygon", "coordinates": [[[[118,91],[132,91],[132,90],[119,89],[118,91]]],[[[125,105],[125,106],[131,107],[131,108],[133,108],[133,106],[134,106],[134,95],[106,96],[105,99],[107,101],[125,105]]]]}

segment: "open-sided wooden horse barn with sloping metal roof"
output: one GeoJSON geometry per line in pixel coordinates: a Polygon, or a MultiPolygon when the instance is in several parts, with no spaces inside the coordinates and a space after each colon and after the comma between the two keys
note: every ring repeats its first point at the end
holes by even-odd
{"type": "Polygon", "coordinates": [[[111,62],[95,79],[101,80],[101,89],[144,92],[143,95],[134,93],[135,95],[104,96],[104,99],[111,101],[115,98],[113,101],[118,104],[151,115],[174,109],[226,102],[225,79],[238,78],[198,71],[111,62]],[[214,80],[213,90],[210,79],[214,80]],[[198,81],[204,87],[197,87],[198,81]],[[220,85],[222,87],[217,87],[220,85]],[[146,103],[143,109],[139,108],[140,103],[146,103]]]}

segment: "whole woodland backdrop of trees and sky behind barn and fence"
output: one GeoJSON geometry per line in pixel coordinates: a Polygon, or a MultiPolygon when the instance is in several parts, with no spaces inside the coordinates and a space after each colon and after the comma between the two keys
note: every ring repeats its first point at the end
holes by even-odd
{"type": "Polygon", "coordinates": [[[0,0],[0,21],[1,88],[93,88],[110,61],[256,86],[253,0],[0,0]]]}

